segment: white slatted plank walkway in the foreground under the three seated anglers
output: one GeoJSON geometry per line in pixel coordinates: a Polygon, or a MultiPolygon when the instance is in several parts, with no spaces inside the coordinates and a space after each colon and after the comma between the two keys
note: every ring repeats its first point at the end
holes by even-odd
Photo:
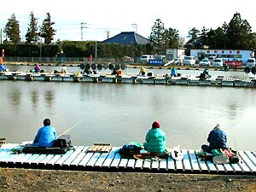
{"type": "Polygon", "coordinates": [[[256,152],[238,151],[237,164],[214,165],[198,159],[197,151],[182,149],[183,160],[125,159],[119,154],[120,147],[110,151],[91,151],[91,147],[74,146],[66,154],[17,153],[20,144],[5,143],[0,148],[0,166],[38,169],[61,169],[101,172],[179,172],[256,175],[256,152]]]}

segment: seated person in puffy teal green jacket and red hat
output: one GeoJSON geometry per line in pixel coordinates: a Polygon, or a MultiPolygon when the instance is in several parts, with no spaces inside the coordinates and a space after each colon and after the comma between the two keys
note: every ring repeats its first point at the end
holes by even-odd
{"type": "Polygon", "coordinates": [[[150,153],[166,152],[166,133],[160,129],[158,121],[154,121],[152,128],[148,130],[146,142],[143,143],[143,146],[150,153]]]}

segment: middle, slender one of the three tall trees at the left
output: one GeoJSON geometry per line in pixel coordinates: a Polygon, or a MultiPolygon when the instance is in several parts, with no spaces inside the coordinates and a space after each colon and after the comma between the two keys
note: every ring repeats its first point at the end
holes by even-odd
{"type": "Polygon", "coordinates": [[[30,24],[26,32],[26,42],[27,43],[37,43],[38,42],[38,19],[35,18],[33,12],[31,12],[30,24]]]}

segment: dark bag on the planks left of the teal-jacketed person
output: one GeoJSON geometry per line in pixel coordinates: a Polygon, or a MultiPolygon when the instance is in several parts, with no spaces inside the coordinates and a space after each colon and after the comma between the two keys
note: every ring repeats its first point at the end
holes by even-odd
{"type": "Polygon", "coordinates": [[[119,154],[121,154],[122,158],[131,159],[134,154],[140,154],[142,149],[143,145],[141,143],[130,142],[119,149],[119,154]]]}

